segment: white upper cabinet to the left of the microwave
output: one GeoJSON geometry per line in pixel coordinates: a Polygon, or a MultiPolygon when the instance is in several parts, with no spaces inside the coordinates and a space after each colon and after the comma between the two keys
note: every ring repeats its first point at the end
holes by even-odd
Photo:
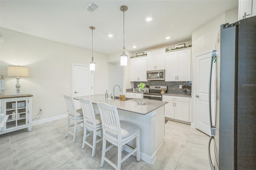
{"type": "Polygon", "coordinates": [[[131,59],[130,81],[147,81],[147,57],[131,59]]]}

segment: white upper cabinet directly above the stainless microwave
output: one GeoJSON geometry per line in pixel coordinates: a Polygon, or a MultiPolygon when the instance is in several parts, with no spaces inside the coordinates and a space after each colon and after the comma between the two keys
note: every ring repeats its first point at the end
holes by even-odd
{"type": "Polygon", "coordinates": [[[166,48],[146,51],[148,56],[147,70],[164,70],[164,58],[166,48]]]}

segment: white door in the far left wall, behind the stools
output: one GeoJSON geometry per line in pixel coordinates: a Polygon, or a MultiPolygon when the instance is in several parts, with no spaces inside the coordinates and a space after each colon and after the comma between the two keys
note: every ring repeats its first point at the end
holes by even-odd
{"type": "MultiPolygon", "coordinates": [[[[73,64],[73,97],[92,95],[93,73],[86,65],[73,64]]],[[[80,109],[79,101],[75,100],[76,109],[80,109]]]]}

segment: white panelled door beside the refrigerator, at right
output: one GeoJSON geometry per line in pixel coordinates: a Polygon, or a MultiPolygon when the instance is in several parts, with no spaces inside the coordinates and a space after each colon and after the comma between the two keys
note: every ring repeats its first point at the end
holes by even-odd
{"type": "MultiPolygon", "coordinates": [[[[210,119],[209,119],[209,73],[212,51],[196,56],[196,128],[209,136],[210,119]]],[[[211,108],[214,113],[215,101],[215,64],[212,67],[212,91],[211,91],[211,108]]],[[[214,114],[213,114],[214,115],[214,114]]],[[[214,117],[212,117],[214,119],[214,117]]]]}

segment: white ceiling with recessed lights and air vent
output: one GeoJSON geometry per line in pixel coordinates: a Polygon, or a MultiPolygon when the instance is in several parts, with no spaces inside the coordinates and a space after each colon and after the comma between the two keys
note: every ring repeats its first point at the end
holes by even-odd
{"type": "Polygon", "coordinates": [[[194,30],[234,8],[238,0],[1,0],[0,26],[85,49],[92,49],[94,26],[94,51],[121,54],[124,42],[136,53],[191,41],[194,30]],[[98,6],[94,12],[87,11],[90,2],[98,6]]]}

